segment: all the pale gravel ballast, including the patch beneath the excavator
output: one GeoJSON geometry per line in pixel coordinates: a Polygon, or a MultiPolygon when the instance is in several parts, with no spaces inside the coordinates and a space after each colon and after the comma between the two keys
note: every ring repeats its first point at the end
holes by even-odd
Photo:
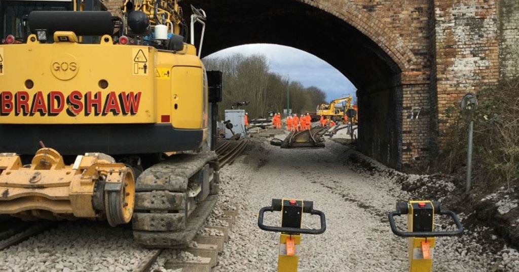
{"type": "MultiPolygon", "coordinates": [[[[257,226],[258,211],[270,206],[272,198],[313,201],[313,208],[326,214],[324,234],[302,237],[298,271],[407,271],[407,239],[395,236],[387,219],[395,202],[412,198],[401,189],[402,176],[410,184],[420,180],[331,140],[326,140],[324,149],[288,150],[270,146],[265,138],[251,138],[244,155],[220,171],[220,195],[206,224],[226,225],[220,219],[224,210],[238,209],[238,216],[213,272],[277,271],[279,234],[257,226]],[[357,159],[352,161],[352,157],[357,159]],[[371,166],[356,163],[359,158],[371,166]]],[[[447,183],[441,186],[449,188],[447,183]]],[[[264,223],[279,225],[280,216],[267,212],[264,223]]],[[[405,216],[397,223],[405,230],[405,216]]],[[[453,228],[444,218],[435,223],[453,228]]],[[[305,214],[303,225],[319,228],[319,217],[305,214]]],[[[437,238],[433,271],[519,271],[515,249],[503,244],[496,253],[481,245],[489,233],[493,231],[481,226],[466,230],[461,237],[437,238]]],[[[221,235],[206,228],[200,234],[221,235]]],[[[0,271],[133,271],[154,252],[133,241],[129,226],[112,228],[80,220],[61,223],[0,251],[0,271]]],[[[179,271],[165,269],[163,264],[189,258],[196,259],[165,250],[151,271],[179,271]]]]}

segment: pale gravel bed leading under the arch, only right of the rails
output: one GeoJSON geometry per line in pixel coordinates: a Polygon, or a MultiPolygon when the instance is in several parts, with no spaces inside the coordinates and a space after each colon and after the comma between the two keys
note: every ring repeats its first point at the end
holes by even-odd
{"type": "MultiPolygon", "coordinates": [[[[354,151],[331,140],[326,141],[324,149],[302,150],[280,149],[259,138],[252,141],[247,156],[221,170],[222,194],[241,208],[231,239],[213,271],[277,270],[279,234],[257,226],[258,211],[270,206],[272,198],[313,201],[314,209],[326,214],[324,234],[303,235],[299,271],[408,269],[407,238],[391,232],[387,216],[394,210],[395,202],[407,201],[412,196],[392,178],[394,170],[377,162],[373,164],[380,171],[352,165],[348,158],[354,151]]],[[[267,212],[265,223],[278,225],[280,216],[279,212],[267,212]]],[[[398,219],[400,228],[405,230],[406,217],[398,219]]],[[[454,227],[447,218],[436,223],[450,226],[447,229],[454,227]]],[[[318,217],[305,214],[303,224],[318,228],[318,217]]],[[[478,244],[479,233],[485,231],[488,230],[467,231],[462,237],[438,237],[433,271],[497,271],[503,265],[500,257],[485,252],[478,244]]],[[[507,264],[519,264],[516,251],[507,252],[507,264]]],[[[512,270],[502,271],[518,271],[518,266],[510,267],[512,270]]]]}

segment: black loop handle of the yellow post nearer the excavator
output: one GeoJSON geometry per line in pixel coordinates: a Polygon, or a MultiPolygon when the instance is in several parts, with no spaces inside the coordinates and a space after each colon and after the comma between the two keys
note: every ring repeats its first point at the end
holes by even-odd
{"type": "Polygon", "coordinates": [[[281,211],[282,208],[282,199],[272,199],[272,205],[269,207],[263,207],[260,209],[260,214],[258,216],[258,226],[264,230],[269,232],[282,232],[282,233],[290,233],[290,234],[322,234],[326,231],[326,218],[324,217],[324,213],[320,210],[313,209],[313,202],[311,201],[303,201],[303,213],[310,213],[318,215],[321,218],[321,228],[298,228],[298,227],[281,227],[281,226],[267,226],[263,224],[263,214],[266,211],[281,211]]]}

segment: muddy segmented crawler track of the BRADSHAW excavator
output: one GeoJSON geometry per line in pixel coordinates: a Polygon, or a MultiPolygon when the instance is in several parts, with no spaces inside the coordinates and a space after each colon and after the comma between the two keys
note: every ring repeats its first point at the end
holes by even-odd
{"type": "Polygon", "coordinates": [[[173,155],[144,170],[135,185],[135,240],[150,248],[187,247],[216,203],[218,168],[210,151],[173,155]]]}

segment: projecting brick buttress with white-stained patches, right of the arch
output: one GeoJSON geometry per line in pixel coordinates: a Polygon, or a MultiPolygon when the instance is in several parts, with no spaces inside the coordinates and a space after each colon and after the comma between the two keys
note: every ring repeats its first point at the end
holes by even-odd
{"type": "MultiPolygon", "coordinates": [[[[498,8],[492,0],[435,1],[436,88],[440,136],[448,107],[499,80],[498,8]]],[[[440,142],[442,137],[440,137],[440,142]]]]}

